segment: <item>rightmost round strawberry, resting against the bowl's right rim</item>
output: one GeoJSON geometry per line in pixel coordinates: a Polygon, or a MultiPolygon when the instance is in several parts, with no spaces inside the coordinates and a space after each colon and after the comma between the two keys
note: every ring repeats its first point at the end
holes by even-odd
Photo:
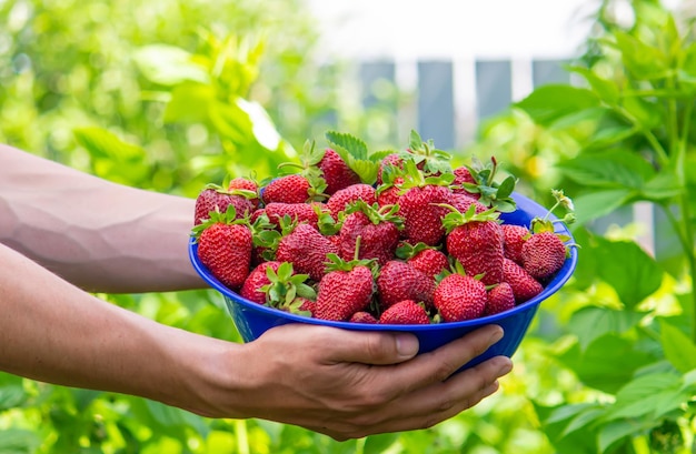
{"type": "Polygon", "coordinates": [[[551,276],[566,261],[566,245],[554,232],[534,233],[521,249],[521,264],[537,281],[551,276]]]}

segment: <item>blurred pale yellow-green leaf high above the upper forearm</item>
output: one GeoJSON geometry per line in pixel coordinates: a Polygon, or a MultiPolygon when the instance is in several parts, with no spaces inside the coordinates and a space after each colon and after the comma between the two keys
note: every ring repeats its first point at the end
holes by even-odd
{"type": "Polygon", "coordinates": [[[210,83],[206,68],[193,62],[181,48],[167,44],[142,47],[133,53],[133,61],[148,80],[160,85],[177,85],[186,81],[210,83]]]}

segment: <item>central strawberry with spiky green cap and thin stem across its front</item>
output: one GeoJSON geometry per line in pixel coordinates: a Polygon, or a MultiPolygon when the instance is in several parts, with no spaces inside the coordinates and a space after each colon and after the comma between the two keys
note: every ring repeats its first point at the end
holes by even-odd
{"type": "Polygon", "coordinates": [[[401,225],[397,210],[395,205],[380,209],[362,201],[350,204],[339,232],[340,258],[351,260],[359,241],[358,259],[376,259],[379,265],[394,259],[401,225]]]}

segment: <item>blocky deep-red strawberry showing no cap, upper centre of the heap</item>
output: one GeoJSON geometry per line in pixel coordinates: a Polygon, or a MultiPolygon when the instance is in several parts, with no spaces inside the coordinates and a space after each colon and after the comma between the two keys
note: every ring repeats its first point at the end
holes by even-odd
{"type": "Polygon", "coordinates": [[[399,214],[404,216],[404,238],[410,243],[437,245],[445,236],[443,218],[448,210],[440,204],[451,202],[451,191],[446,186],[426,184],[406,189],[399,198],[399,214]]]}

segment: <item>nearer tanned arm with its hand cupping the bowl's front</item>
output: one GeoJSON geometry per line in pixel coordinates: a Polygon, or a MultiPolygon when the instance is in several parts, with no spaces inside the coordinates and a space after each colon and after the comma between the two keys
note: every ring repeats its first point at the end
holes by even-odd
{"type": "Polygon", "coordinates": [[[418,356],[408,334],[302,324],[238,345],[108,304],[1,244],[0,263],[0,370],[206,416],[262,417],[337,440],[422,428],[476,405],[511,367],[495,357],[446,380],[499,339],[495,326],[418,356]]]}

